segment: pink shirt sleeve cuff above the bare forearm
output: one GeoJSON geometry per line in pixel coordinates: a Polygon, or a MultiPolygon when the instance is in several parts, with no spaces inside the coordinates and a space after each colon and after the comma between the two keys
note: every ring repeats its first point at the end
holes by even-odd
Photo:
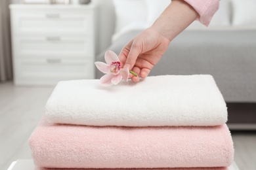
{"type": "Polygon", "coordinates": [[[211,18],[219,9],[219,0],[184,0],[198,12],[199,20],[203,25],[208,26],[211,18]]]}

